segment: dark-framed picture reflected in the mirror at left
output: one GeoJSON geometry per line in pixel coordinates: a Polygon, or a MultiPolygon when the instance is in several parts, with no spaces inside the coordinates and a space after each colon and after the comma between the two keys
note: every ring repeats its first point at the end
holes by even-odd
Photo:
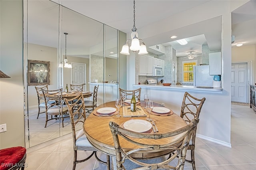
{"type": "Polygon", "coordinates": [[[28,85],[50,85],[50,61],[28,60],[28,85]]]}

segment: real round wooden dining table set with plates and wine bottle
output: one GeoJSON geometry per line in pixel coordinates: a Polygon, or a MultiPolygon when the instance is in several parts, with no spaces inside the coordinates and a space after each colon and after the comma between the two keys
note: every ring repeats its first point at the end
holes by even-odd
{"type": "MultiPolygon", "coordinates": [[[[145,102],[140,101],[139,106],[141,106],[143,111],[148,116],[148,112],[144,108],[145,102]]],[[[83,129],[89,142],[95,148],[104,152],[105,154],[108,154],[110,156],[115,156],[116,151],[114,148],[114,141],[112,138],[112,133],[110,131],[109,122],[113,121],[118,125],[122,125],[126,121],[129,121],[132,119],[141,119],[146,121],[146,117],[123,117],[122,107],[120,108],[121,117],[116,117],[115,115],[109,116],[109,117],[99,117],[94,115],[94,113],[97,112],[98,109],[103,107],[115,107],[115,101],[104,103],[96,107],[96,109],[94,109],[94,111],[86,118],[86,121],[84,121],[83,129]]],[[[164,107],[164,106],[158,103],[154,103],[154,107],[164,107]]],[[[176,130],[178,128],[181,128],[187,125],[186,122],[179,115],[175,113],[168,116],[151,114],[150,118],[153,119],[153,121],[155,122],[159,130],[159,132],[157,133],[170,132],[172,130],[176,130]]],[[[160,142],[161,144],[169,143],[170,141],[178,138],[178,136],[163,138],[158,140],[158,142],[160,142]]],[[[154,139],[136,138],[135,140],[138,140],[140,142],[150,143],[150,144],[154,144],[156,142],[154,139]]],[[[138,146],[131,144],[130,142],[128,142],[127,140],[124,140],[123,138],[120,138],[120,144],[121,146],[125,146],[126,149],[138,148],[138,146]]],[[[150,153],[150,154],[141,153],[141,154],[134,155],[133,157],[138,159],[147,159],[147,158],[152,158],[156,156],[164,156],[169,153],[170,153],[170,150],[166,150],[166,151],[162,151],[158,153],[150,153]]]]}

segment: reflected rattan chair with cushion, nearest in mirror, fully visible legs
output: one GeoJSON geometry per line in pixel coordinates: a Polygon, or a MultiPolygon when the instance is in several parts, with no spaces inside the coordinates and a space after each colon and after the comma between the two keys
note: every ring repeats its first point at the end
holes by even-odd
{"type": "Polygon", "coordinates": [[[62,102],[62,89],[58,90],[42,90],[44,94],[44,103],[45,103],[45,114],[46,114],[46,120],[45,120],[45,126],[47,125],[47,122],[54,119],[62,119],[62,127],[64,127],[64,117],[67,115],[68,108],[66,105],[63,105],[62,102]],[[48,104],[48,101],[55,101],[55,103],[48,104]],[[48,116],[51,116],[50,119],[48,119],[48,116]],[[54,117],[53,117],[54,116],[54,117]]]}

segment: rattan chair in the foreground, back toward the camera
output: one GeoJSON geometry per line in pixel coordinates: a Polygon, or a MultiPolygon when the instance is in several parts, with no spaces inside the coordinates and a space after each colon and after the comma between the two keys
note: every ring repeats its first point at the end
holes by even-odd
{"type": "MultiPolygon", "coordinates": [[[[175,170],[183,170],[186,151],[188,148],[189,140],[198,124],[199,119],[193,119],[188,125],[162,134],[158,133],[139,133],[134,132],[125,128],[120,127],[114,122],[109,123],[110,130],[112,132],[114,146],[116,150],[116,168],[118,170],[125,169],[124,163],[126,160],[130,160],[133,164],[137,164],[141,169],[144,170],[156,170],[156,169],[175,169],[175,170]],[[159,144],[158,140],[173,137],[170,143],[159,144]],[[140,140],[134,140],[135,138],[143,138],[143,139],[154,139],[154,143],[141,143],[140,140]],[[127,140],[131,143],[131,145],[136,145],[136,148],[128,150],[127,145],[122,146],[120,140],[127,140]],[[159,162],[153,162],[154,159],[150,162],[142,162],[133,158],[136,154],[151,154],[154,155],[153,152],[160,152],[170,150],[174,154],[167,158],[166,160],[162,160],[159,162]],[[169,163],[178,157],[178,162],[176,166],[170,166],[169,163]]],[[[128,165],[130,166],[130,165],[128,165]]]]}

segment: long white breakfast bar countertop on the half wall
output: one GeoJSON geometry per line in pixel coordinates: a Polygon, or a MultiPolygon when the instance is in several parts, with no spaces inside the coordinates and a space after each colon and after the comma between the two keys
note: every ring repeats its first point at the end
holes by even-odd
{"type": "Polygon", "coordinates": [[[159,89],[172,89],[172,90],[193,90],[193,91],[212,91],[212,92],[222,92],[221,87],[214,87],[212,89],[204,89],[198,88],[196,86],[188,86],[188,85],[148,85],[148,84],[140,84],[140,85],[133,85],[134,87],[145,87],[145,88],[159,88],[159,89]]]}

